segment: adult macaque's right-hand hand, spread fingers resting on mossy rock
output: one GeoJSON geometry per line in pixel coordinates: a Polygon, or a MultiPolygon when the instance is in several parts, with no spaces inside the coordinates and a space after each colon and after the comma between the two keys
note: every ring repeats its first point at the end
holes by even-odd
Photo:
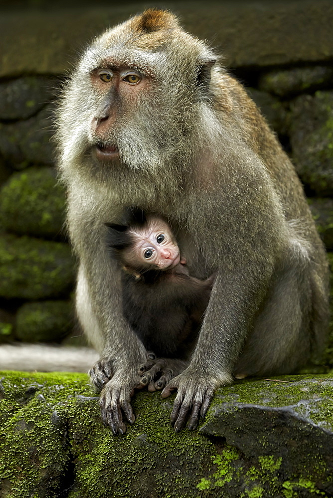
{"type": "Polygon", "coordinates": [[[162,397],[166,398],[177,389],[170,420],[175,432],[179,432],[188,418],[188,429],[194,430],[199,417],[205,417],[215,389],[221,385],[216,378],[198,375],[186,369],[174,377],[163,389],[162,397]]]}

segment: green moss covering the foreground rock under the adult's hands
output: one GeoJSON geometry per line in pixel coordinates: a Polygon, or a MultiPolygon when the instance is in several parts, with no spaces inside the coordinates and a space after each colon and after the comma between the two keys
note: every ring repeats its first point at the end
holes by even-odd
{"type": "MultiPolygon", "coordinates": [[[[235,387],[245,398],[243,386],[235,387]]],[[[158,392],[138,392],[132,403],[136,422],[121,437],[103,427],[85,374],[0,372],[0,398],[3,498],[56,498],[74,477],[65,495],[70,498],[323,494],[316,486],[323,481],[323,462],[316,462],[313,475],[304,468],[296,479],[278,455],[246,458],[221,438],[187,430],[175,434],[169,425],[174,396],[162,400],[158,392]]]]}

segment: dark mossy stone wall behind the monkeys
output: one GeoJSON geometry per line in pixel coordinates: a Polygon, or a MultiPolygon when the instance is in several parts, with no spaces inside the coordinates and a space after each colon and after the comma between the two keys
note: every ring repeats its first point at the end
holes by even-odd
{"type": "MultiPolygon", "coordinates": [[[[54,103],[77,48],[144,8],[40,5],[21,5],[0,17],[0,342],[59,342],[73,328],[76,263],[54,167],[54,103]]],[[[290,154],[323,241],[333,250],[332,2],[164,6],[180,13],[186,29],[211,40],[248,87],[290,154]]],[[[332,349],[333,340],[327,367],[332,349]]]]}

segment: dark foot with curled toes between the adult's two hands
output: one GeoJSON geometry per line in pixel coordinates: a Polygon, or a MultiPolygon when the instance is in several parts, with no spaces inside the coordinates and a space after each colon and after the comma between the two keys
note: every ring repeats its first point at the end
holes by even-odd
{"type": "Polygon", "coordinates": [[[153,392],[163,389],[166,384],[176,375],[183,372],[186,362],[172,358],[150,359],[139,367],[141,376],[140,386],[148,385],[148,390],[153,392]]]}

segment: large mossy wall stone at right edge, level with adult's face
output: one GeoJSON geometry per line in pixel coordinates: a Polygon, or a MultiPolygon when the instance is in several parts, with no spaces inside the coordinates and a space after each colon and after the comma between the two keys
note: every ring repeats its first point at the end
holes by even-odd
{"type": "Polygon", "coordinates": [[[333,194],[333,92],[291,104],[290,138],[297,172],[319,195],[333,194]]]}

